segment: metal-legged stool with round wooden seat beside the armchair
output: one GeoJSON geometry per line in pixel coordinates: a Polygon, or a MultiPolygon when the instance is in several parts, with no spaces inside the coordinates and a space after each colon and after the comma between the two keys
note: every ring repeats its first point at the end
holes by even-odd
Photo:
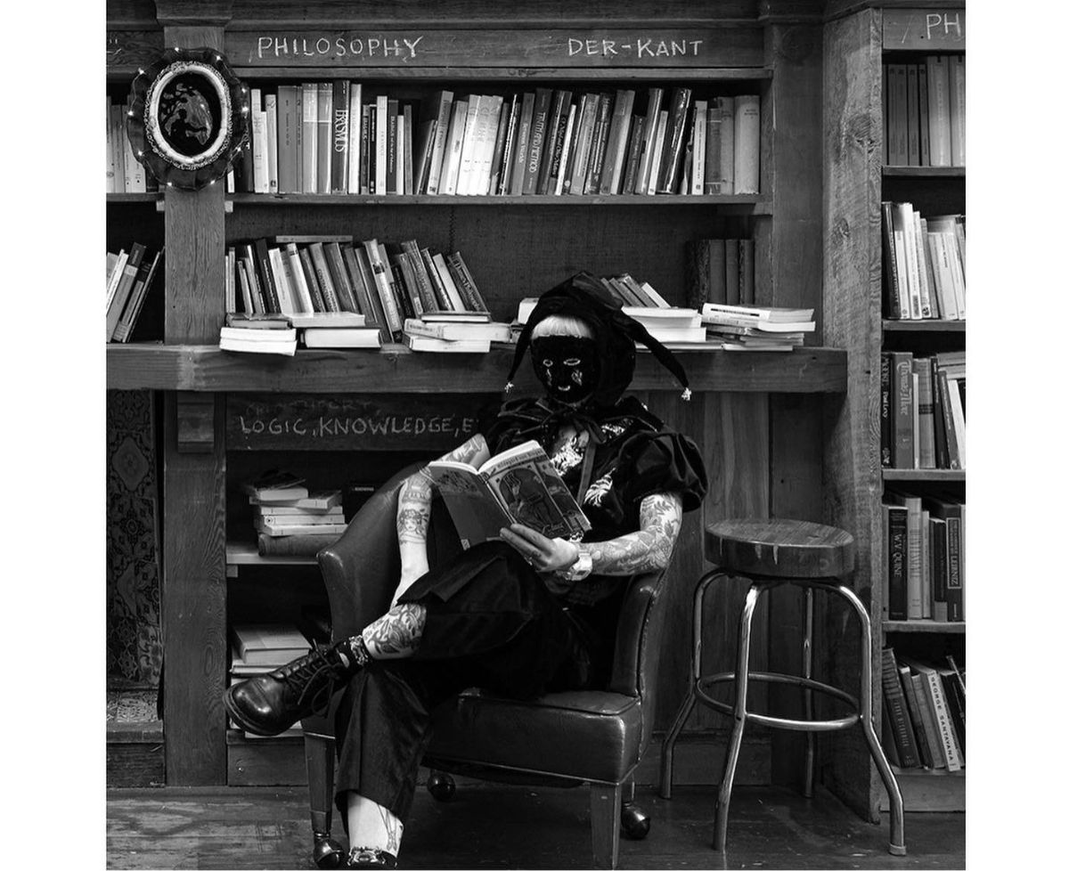
{"type": "Polygon", "coordinates": [[[727,842],[728,806],[734,781],[743,730],[753,720],[777,729],[806,732],[805,796],[812,795],[815,732],[832,732],[861,725],[869,752],[876,761],[880,777],[890,802],[890,845],[895,856],[905,855],[902,834],[902,794],[898,781],[887,764],[883,748],[872,726],[872,627],[865,606],[840,578],[854,567],[854,540],[849,532],[821,524],[803,520],[721,520],[706,528],[706,559],[716,567],[707,572],[694,592],[694,647],[692,653],[692,682],[686,698],[661,748],[661,795],[671,798],[672,752],[676,738],[683,724],[694,710],[696,701],[734,718],[728,744],[724,776],[716,800],[716,828],[713,849],[723,851],[727,842]],[[750,581],[746,601],[739,618],[739,642],[735,670],[716,674],[701,674],[702,610],[706,592],[716,579],[741,575],[750,581]],[[773,587],[793,584],[805,589],[805,640],[802,648],[802,675],[749,670],[750,624],[758,598],[773,587]],[[843,690],[812,679],[812,593],[820,590],[841,596],[853,607],[862,627],[862,675],[858,699],[843,690]],[[805,690],[806,719],[785,719],[765,714],[755,714],[746,709],[746,693],[750,681],[765,681],[800,686],[805,690]],[[718,701],[709,695],[713,684],[730,681],[734,684],[734,705],[718,701]],[[824,693],[850,704],[854,713],[838,719],[812,718],[812,693],[824,693]]]}

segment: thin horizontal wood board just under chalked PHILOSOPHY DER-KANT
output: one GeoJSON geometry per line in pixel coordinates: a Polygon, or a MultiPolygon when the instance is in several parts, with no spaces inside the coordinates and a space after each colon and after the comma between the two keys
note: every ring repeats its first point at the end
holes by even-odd
{"type": "MultiPolygon", "coordinates": [[[[398,79],[428,79],[441,81],[513,82],[526,81],[756,81],[771,79],[772,69],[765,66],[707,66],[707,67],[533,67],[533,66],[235,66],[234,74],[243,79],[289,79],[313,75],[316,80],[353,79],[363,82],[396,81],[398,79]]],[[[135,71],[136,73],[137,71],[135,71]]]]}

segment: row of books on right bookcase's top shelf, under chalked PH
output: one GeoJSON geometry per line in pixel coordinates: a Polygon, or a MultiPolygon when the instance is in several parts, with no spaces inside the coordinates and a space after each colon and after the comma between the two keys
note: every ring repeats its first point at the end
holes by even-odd
{"type": "Polygon", "coordinates": [[[965,166],[965,56],[883,65],[884,162],[965,166]]]}

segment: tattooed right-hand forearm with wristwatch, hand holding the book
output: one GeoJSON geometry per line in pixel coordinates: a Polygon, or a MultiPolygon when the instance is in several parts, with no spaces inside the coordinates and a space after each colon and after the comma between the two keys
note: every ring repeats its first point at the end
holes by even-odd
{"type": "MultiPolygon", "coordinates": [[[[591,574],[635,575],[668,565],[682,522],[680,497],[675,493],[655,493],[642,499],[639,506],[638,530],[608,541],[575,544],[563,539],[547,539],[520,524],[502,529],[501,538],[543,574],[567,570],[586,553],[590,555],[591,574]]],[[[554,581],[549,586],[561,585],[554,581]]]]}

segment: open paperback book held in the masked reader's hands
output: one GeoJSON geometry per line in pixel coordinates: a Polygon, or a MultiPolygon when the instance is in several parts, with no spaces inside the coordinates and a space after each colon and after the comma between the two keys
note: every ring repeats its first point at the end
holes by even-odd
{"type": "Polygon", "coordinates": [[[590,522],[533,439],[492,456],[478,469],[436,460],[428,471],[445,499],[464,547],[500,539],[517,523],[549,539],[582,535],[590,522]]]}

